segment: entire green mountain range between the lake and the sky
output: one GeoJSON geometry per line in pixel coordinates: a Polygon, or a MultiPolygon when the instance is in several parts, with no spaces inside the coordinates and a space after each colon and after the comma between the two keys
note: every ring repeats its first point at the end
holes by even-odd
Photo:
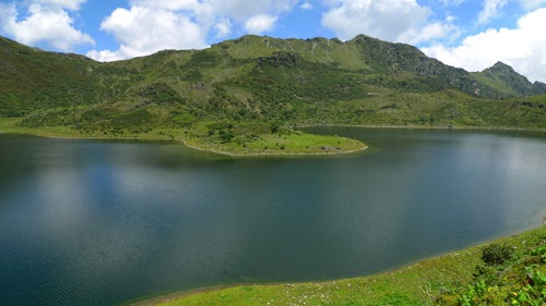
{"type": "Polygon", "coordinates": [[[0,37],[0,117],[105,133],[203,121],[546,127],[546,84],[500,62],[470,73],[365,35],[244,36],[109,63],[0,37]]]}

